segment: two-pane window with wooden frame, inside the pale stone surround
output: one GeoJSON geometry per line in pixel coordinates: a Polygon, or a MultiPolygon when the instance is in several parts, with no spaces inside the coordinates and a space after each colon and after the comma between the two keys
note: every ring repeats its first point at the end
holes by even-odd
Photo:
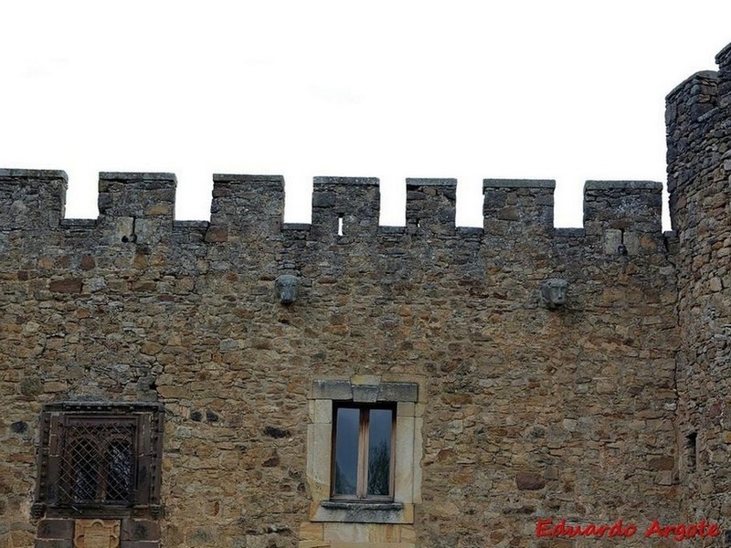
{"type": "Polygon", "coordinates": [[[396,406],[336,404],[331,499],[393,501],[396,406]]]}

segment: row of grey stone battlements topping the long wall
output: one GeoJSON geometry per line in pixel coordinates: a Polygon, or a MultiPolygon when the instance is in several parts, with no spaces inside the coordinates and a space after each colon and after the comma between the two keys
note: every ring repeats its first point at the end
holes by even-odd
{"type": "Polygon", "coordinates": [[[623,239],[630,243],[630,254],[655,251],[658,246],[647,242],[662,241],[662,184],[649,181],[588,181],[584,227],[578,230],[553,226],[556,183],[551,180],[485,179],[482,228],[455,226],[457,179],[408,178],[404,227],[378,225],[381,204],[375,177],[315,177],[311,225],[283,221],[281,175],[215,174],[213,181],[209,222],[174,220],[176,180],[169,173],[101,173],[99,217],[64,219],[63,171],[4,169],[0,170],[0,231],[31,232],[37,237],[87,233],[109,245],[167,245],[196,239],[210,245],[288,235],[346,244],[400,234],[415,242],[428,240],[429,245],[480,237],[486,246],[524,239],[546,246],[554,237],[571,236],[581,245],[601,242],[610,254],[623,239]],[[202,237],[185,236],[186,231],[202,237]]]}

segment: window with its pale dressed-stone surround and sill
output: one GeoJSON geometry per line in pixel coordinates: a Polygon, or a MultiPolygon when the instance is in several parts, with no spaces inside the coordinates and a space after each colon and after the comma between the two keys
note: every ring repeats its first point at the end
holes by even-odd
{"type": "Polygon", "coordinates": [[[414,522],[414,505],[421,501],[426,394],[419,383],[423,379],[403,375],[313,381],[310,522],[414,522]]]}

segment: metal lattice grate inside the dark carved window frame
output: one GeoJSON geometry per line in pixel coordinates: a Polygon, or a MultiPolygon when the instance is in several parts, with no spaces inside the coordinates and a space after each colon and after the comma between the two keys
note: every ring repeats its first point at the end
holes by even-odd
{"type": "Polygon", "coordinates": [[[73,424],[64,432],[59,484],[61,501],[132,501],[134,427],[131,424],[73,424]]]}

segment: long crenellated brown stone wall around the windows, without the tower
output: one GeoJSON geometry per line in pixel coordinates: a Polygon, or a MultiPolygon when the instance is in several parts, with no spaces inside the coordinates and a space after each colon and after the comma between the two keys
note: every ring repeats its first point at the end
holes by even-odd
{"type": "Polygon", "coordinates": [[[484,229],[454,227],[453,180],[408,180],[407,227],[377,226],[375,179],[316,179],[313,225],[284,227],[281,177],[216,175],[210,223],[174,222],[170,174],[101,174],[96,221],[61,221],[65,184],[0,172],[0,543],[33,545],[38,414],[79,398],[164,402],[163,546],[677,522],[660,184],[589,182],[583,229],[552,226],[550,181],[486,180],[484,229]],[[302,279],[288,306],[281,274],[302,279]],[[569,282],[556,310],[549,278],[569,282]],[[313,381],[358,378],[419,385],[412,522],[310,522],[313,381]]]}

